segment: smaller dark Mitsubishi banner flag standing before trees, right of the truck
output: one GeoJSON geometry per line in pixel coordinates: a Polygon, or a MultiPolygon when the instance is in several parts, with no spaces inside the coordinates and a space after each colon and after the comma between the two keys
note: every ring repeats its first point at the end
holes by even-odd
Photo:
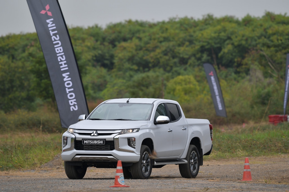
{"type": "Polygon", "coordinates": [[[227,117],[227,113],[225,109],[225,102],[223,99],[223,94],[222,94],[222,90],[221,90],[221,86],[218,80],[217,73],[211,64],[205,63],[203,64],[203,66],[204,66],[207,80],[209,83],[216,115],[221,116],[221,117],[227,117]]]}

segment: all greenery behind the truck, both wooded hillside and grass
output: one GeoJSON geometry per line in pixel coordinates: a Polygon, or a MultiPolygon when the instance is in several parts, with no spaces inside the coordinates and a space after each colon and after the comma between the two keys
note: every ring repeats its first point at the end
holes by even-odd
{"type": "MultiPolygon", "coordinates": [[[[289,153],[288,123],[267,124],[283,114],[286,14],[128,20],[69,33],[90,111],[111,98],[173,99],[187,118],[213,124],[205,159],[289,153]],[[218,73],[227,118],[215,114],[204,62],[218,73]]],[[[51,160],[64,131],[37,34],[0,37],[0,170],[51,160]]]]}

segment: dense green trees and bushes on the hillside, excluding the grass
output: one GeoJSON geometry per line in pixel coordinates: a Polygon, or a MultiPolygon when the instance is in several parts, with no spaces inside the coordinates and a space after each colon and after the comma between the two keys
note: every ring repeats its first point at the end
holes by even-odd
{"type": "MultiPolygon", "coordinates": [[[[69,28],[87,100],[154,97],[181,103],[212,123],[260,121],[282,113],[288,16],[127,20],[69,28]],[[203,63],[214,65],[228,118],[216,117],[203,63]]],[[[55,105],[36,33],[0,37],[0,111],[55,105]],[[21,71],[20,71],[21,70],[21,71]]]]}

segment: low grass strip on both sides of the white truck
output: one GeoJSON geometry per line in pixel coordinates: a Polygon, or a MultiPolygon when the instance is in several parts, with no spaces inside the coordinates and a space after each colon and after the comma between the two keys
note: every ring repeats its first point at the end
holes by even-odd
{"type": "MultiPolygon", "coordinates": [[[[262,126],[214,127],[213,151],[204,160],[234,157],[278,156],[289,154],[288,123],[262,126]]],[[[62,132],[66,129],[62,128],[62,132]]],[[[41,133],[39,129],[6,132],[0,135],[0,170],[36,169],[61,153],[59,133],[41,133]]]]}

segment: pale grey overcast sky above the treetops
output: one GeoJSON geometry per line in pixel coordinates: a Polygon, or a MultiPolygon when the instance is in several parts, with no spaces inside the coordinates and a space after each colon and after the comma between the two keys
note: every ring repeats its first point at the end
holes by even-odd
{"type": "MultiPolygon", "coordinates": [[[[0,3],[0,36],[35,32],[26,0],[0,3]]],[[[289,9],[289,0],[59,0],[59,4],[70,27],[105,27],[128,19],[155,22],[176,16],[202,18],[206,14],[260,17],[265,11],[285,14],[289,9]]]]}

